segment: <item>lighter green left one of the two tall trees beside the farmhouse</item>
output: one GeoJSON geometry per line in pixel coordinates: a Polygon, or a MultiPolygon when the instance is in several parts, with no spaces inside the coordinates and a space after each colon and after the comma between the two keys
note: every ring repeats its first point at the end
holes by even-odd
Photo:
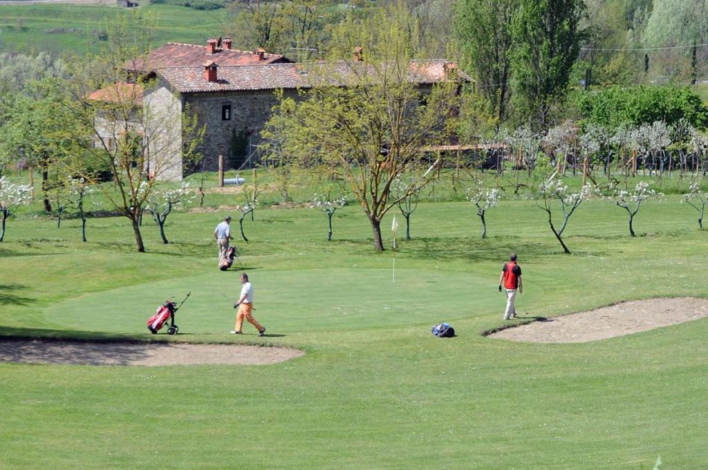
{"type": "Polygon", "coordinates": [[[455,35],[462,67],[474,70],[477,88],[498,124],[508,117],[511,86],[511,21],[518,0],[460,0],[455,6],[455,35]]]}

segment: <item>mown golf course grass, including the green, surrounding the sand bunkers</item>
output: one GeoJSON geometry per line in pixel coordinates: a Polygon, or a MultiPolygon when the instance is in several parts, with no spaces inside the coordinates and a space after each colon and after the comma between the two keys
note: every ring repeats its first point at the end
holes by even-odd
{"type": "MultiPolygon", "coordinates": [[[[234,202],[235,204],[235,202],[234,202]]],[[[235,214],[232,211],[232,215],[235,214]]],[[[573,216],[561,254],[534,201],[504,200],[486,240],[469,202],[423,203],[413,240],[374,253],[359,207],[326,218],[259,209],[236,244],[273,333],[230,336],[239,270],[216,268],[224,210],[178,212],[148,253],[125,219],[57,229],[32,211],[0,243],[0,334],[154,339],[166,297],[192,297],[181,333],[161,340],[304,350],[265,366],[0,364],[0,467],[22,468],[702,468],[708,462],[708,321],[580,344],[493,340],[501,265],[519,254],[522,316],[622,300],[708,297],[708,234],[670,196],[625,214],[595,200],[573,216]],[[346,313],[346,315],[345,315],[346,313]],[[456,338],[430,326],[450,321],[456,338]]],[[[389,214],[390,215],[390,214],[389,214]]],[[[382,227],[388,227],[390,219],[382,227]]],[[[232,224],[237,229],[237,224],[232,224]]],[[[400,233],[400,232],[399,232],[400,233]]],[[[389,238],[389,237],[387,237],[389,238]]],[[[387,240],[390,245],[390,239],[387,240]]],[[[249,329],[250,328],[250,329],[249,329]]]]}

